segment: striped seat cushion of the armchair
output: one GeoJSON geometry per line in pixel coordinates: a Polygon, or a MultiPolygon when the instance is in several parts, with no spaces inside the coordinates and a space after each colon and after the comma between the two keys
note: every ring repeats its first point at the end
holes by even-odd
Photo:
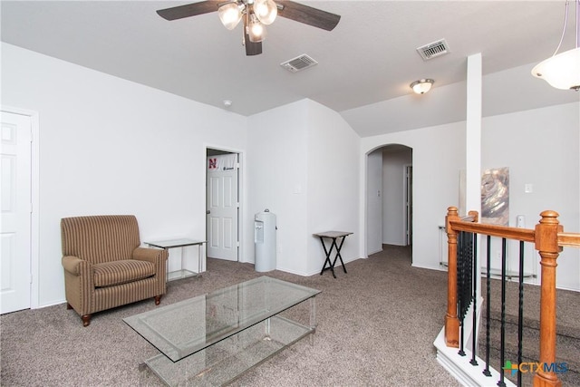
{"type": "Polygon", "coordinates": [[[126,284],[154,276],[156,272],[156,267],[152,263],[136,259],[103,262],[92,267],[95,287],[126,284]]]}

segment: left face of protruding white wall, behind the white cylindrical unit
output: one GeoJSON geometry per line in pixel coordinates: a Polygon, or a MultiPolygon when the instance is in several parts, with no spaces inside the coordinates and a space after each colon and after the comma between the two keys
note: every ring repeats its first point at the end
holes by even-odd
{"type": "Polygon", "coordinates": [[[305,273],[307,187],[307,101],[265,111],[248,119],[247,260],[254,262],[254,215],[276,216],[276,267],[305,273]]]}

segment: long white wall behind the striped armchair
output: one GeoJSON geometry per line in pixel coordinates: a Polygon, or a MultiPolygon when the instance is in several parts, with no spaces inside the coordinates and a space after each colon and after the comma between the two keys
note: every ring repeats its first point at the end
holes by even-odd
{"type": "Polygon", "coordinates": [[[205,238],[205,142],[246,118],[2,44],[2,104],[40,119],[39,305],[64,301],[60,219],[134,214],[141,241],[205,238]]]}

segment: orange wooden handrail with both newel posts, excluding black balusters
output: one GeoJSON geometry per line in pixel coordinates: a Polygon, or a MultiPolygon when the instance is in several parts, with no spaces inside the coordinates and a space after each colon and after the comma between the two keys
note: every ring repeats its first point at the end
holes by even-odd
{"type": "MultiPolygon", "coordinates": [[[[449,207],[445,217],[448,236],[448,295],[445,315],[445,342],[449,347],[459,347],[459,317],[457,313],[457,243],[461,231],[479,235],[502,237],[534,243],[541,260],[540,289],[540,348],[539,363],[556,362],[556,260],[563,247],[580,247],[580,234],[565,233],[559,224],[558,213],[547,210],[534,229],[502,227],[478,223],[478,212],[459,218],[458,208],[449,207]]],[[[555,372],[540,369],[534,376],[535,386],[561,386],[555,372]]]]}

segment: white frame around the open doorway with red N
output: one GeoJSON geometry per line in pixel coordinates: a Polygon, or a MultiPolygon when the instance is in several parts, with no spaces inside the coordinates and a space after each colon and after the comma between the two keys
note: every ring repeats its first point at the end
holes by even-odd
{"type": "MultiPolygon", "coordinates": [[[[204,143],[204,155],[203,155],[203,168],[204,168],[204,176],[206,180],[206,184],[204,185],[204,203],[207,209],[208,203],[208,150],[221,150],[228,153],[237,153],[237,163],[239,164],[239,168],[237,169],[237,200],[239,202],[239,207],[237,208],[237,262],[246,262],[244,260],[244,152],[243,150],[235,150],[232,148],[227,148],[219,145],[213,145],[204,143]]],[[[204,211],[204,217],[206,219],[206,239],[208,239],[208,217],[204,211]]]]}

